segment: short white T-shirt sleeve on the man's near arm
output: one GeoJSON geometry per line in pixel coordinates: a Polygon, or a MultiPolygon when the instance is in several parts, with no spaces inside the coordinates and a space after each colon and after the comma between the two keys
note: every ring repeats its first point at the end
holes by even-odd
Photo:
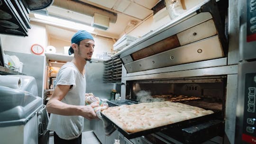
{"type": "Polygon", "coordinates": [[[56,85],[73,85],[74,88],[76,76],[76,70],[73,67],[60,69],[56,78],[56,85]]]}

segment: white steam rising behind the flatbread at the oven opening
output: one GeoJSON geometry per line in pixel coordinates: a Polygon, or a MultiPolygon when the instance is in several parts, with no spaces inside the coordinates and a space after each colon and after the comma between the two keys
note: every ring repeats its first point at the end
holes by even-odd
{"type": "Polygon", "coordinates": [[[164,99],[160,98],[153,98],[151,96],[150,91],[140,90],[136,93],[137,100],[140,102],[155,102],[155,101],[165,101],[164,99]]]}

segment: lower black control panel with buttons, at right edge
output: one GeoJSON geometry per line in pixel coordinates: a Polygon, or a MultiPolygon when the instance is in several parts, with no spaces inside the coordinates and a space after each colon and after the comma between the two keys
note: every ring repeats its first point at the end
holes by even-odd
{"type": "Polygon", "coordinates": [[[245,81],[242,140],[256,144],[256,73],[247,73],[245,81]]]}

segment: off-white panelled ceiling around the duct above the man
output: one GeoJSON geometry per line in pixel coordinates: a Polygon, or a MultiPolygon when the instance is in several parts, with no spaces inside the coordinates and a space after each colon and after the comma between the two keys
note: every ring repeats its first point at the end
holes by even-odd
{"type": "MultiPolygon", "coordinates": [[[[56,0],[57,1],[57,0],[56,0]]],[[[64,2],[65,0],[58,0],[64,2]]],[[[139,24],[145,18],[153,15],[151,10],[159,0],[80,0],[82,2],[91,4],[101,9],[106,9],[117,13],[116,23],[110,23],[110,27],[107,30],[95,29],[94,34],[99,36],[106,36],[110,38],[119,39],[125,31],[134,27],[131,25],[131,21],[135,24],[139,24]]],[[[50,6],[47,8],[49,15],[55,15],[62,18],[71,19],[73,21],[81,22],[91,25],[92,17],[79,12],[71,11],[70,9],[64,9],[56,6],[50,6]]],[[[70,40],[70,35],[73,35],[75,30],[71,30],[71,33],[67,33],[67,29],[61,27],[47,26],[47,31],[50,36],[61,36],[62,39],[70,40]]]]}

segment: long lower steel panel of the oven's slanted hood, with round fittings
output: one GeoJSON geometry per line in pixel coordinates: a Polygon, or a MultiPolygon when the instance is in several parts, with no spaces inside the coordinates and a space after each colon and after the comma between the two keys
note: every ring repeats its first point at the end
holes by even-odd
{"type": "Polygon", "coordinates": [[[223,57],[223,50],[218,36],[212,36],[189,45],[184,45],[159,54],[148,56],[124,66],[128,73],[161,68],[183,63],[223,57]]]}

